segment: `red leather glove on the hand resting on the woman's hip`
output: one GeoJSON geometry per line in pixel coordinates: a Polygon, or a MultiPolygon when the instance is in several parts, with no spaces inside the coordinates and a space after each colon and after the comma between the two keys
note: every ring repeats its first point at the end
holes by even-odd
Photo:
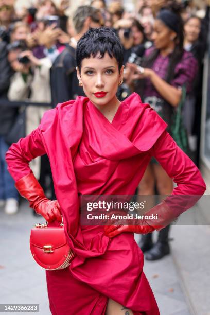
{"type": "Polygon", "coordinates": [[[115,221],[113,225],[104,226],[104,234],[108,237],[114,237],[122,232],[132,232],[137,234],[148,234],[154,230],[159,231],[165,226],[167,226],[172,220],[176,217],[172,213],[168,205],[163,201],[160,204],[156,205],[146,213],[144,216],[158,215],[158,219],[139,219],[139,220],[128,220],[131,225],[120,224],[122,220],[115,221]],[[133,225],[132,225],[133,222],[133,225]],[[135,224],[135,225],[134,225],[135,224]]]}

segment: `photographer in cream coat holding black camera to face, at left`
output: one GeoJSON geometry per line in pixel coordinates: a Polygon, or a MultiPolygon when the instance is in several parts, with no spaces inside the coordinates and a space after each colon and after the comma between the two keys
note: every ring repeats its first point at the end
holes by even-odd
{"type": "MultiPolygon", "coordinates": [[[[37,128],[44,112],[51,108],[49,84],[51,61],[46,57],[36,58],[32,51],[23,47],[20,42],[19,45],[18,42],[9,45],[8,50],[8,60],[14,72],[8,91],[9,100],[49,103],[49,106],[26,107],[26,134],[29,134],[37,128]]],[[[40,158],[34,160],[31,167],[39,179],[40,158]]]]}

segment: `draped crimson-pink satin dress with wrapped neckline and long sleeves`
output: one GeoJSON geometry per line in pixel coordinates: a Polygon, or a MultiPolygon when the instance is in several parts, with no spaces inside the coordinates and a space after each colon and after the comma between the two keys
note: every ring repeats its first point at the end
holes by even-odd
{"type": "Polygon", "coordinates": [[[135,93],[122,102],[112,124],[87,98],[59,104],[38,129],[7,152],[15,181],[31,172],[28,162],[47,153],[69,246],[69,268],[46,271],[53,315],[105,314],[108,299],[135,315],[158,315],[133,233],[108,238],[103,226],[81,226],[79,196],[132,195],[151,156],[178,184],[174,195],[202,195],[195,164],[165,131],[167,125],[135,93]]]}

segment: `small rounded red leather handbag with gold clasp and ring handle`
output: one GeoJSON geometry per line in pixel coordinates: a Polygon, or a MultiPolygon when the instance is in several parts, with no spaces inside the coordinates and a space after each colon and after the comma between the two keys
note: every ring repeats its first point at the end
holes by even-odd
{"type": "Polygon", "coordinates": [[[47,270],[68,267],[75,253],[68,246],[64,233],[63,218],[60,226],[35,224],[30,234],[30,250],[36,263],[47,270]]]}

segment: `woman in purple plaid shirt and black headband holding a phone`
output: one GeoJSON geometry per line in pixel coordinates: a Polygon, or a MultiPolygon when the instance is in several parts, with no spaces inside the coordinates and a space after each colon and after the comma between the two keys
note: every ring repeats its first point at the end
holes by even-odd
{"type": "MultiPolygon", "coordinates": [[[[145,51],[142,67],[127,64],[127,69],[131,71],[128,77],[135,91],[167,122],[170,134],[173,110],[179,106],[184,89],[187,94],[193,90],[198,71],[197,60],[184,50],[181,10],[176,2],[160,10],[153,25],[153,46],[145,51]]],[[[187,142],[187,135],[185,139],[187,142]]],[[[139,183],[138,194],[154,196],[157,191],[165,196],[172,190],[172,179],[162,165],[152,159],[139,183]]],[[[167,226],[161,230],[156,242],[153,242],[152,234],[141,237],[139,246],[146,252],[147,260],[158,260],[170,253],[169,229],[170,226],[167,226]]]]}

